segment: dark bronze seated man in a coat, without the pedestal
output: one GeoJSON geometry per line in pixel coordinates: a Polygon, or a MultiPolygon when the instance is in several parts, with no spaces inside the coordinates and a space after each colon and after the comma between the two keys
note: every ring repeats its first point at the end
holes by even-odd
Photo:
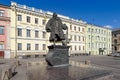
{"type": "Polygon", "coordinates": [[[50,34],[50,42],[58,42],[62,41],[63,45],[65,38],[65,35],[63,33],[63,29],[67,30],[67,26],[62,23],[62,20],[57,17],[56,13],[53,13],[53,17],[48,21],[46,25],[46,31],[51,32],[50,34]]]}

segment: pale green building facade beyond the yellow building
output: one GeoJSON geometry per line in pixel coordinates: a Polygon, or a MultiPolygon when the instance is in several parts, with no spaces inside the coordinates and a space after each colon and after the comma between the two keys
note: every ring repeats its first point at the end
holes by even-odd
{"type": "Polygon", "coordinates": [[[111,29],[87,24],[86,52],[92,55],[107,55],[111,53],[111,29]]]}

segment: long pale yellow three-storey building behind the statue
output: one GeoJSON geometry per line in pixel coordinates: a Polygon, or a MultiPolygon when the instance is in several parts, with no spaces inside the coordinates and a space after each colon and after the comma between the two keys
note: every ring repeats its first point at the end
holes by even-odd
{"type": "MultiPolygon", "coordinates": [[[[11,3],[11,28],[10,48],[11,56],[19,55],[38,56],[48,52],[49,33],[46,33],[45,26],[52,17],[52,13],[11,3]]],[[[85,52],[85,28],[86,23],[58,15],[64,24],[68,26],[68,38],[70,40],[70,54],[85,52]]]]}

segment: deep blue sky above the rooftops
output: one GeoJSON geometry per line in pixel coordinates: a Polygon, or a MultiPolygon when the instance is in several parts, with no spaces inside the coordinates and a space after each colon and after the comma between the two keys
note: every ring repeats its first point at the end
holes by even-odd
{"type": "MultiPolygon", "coordinates": [[[[120,28],[120,0],[12,0],[91,24],[120,28]]],[[[10,5],[11,0],[0,0],[10,5]]]]}

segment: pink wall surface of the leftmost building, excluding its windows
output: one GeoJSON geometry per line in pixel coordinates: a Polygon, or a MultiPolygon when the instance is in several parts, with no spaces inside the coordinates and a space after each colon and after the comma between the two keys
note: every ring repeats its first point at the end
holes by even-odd
{"type": "Polygon", "coordinates": [[[7,49],[8,28],[10,26],[9,7],[0,5],[0,10],[4,10],[4,16],[0,16],[0,26],[4,26],[4,34],[0,34],[0,42],[3,42],[4,49],[7,49]]]}

